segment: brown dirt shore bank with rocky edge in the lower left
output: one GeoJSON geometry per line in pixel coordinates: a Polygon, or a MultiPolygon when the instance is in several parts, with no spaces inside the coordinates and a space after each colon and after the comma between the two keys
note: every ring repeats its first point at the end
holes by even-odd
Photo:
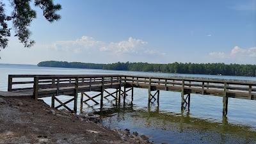
{"type": "Polygon", "coordinates": [[[150,143],[148,138],[143,140],[129,131],[106,129],[98,121],[97,118],[51,109],[43,100],[0,97],[1,144],[150,143]]]}

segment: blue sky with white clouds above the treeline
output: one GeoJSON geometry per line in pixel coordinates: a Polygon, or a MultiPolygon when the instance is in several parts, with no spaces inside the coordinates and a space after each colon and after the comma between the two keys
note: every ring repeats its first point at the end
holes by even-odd
{"type": "Polygon", "coordinates": [[[36,8],[27,49],[12,37],[0,63],[256,63],[256,0],[54,1],[61,20],[36,8]]]}

